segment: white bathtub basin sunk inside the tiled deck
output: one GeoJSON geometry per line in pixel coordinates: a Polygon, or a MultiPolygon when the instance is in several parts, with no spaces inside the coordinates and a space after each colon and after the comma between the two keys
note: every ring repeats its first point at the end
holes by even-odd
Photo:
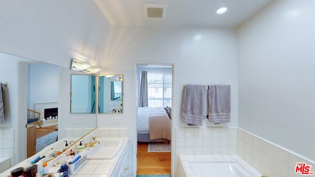
{"type": "Polygon", "coordinates": [[[236,162],[190,162],[195,177],[252,177],[236,162]]]}

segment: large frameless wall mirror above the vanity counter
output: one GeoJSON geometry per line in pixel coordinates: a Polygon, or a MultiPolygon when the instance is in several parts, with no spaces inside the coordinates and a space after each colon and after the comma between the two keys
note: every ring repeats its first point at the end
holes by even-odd
{"type": "MultiPolygon", "coordinates": [[[[81,114],[78,116],[71,115],[69,111],[71,74],[77,73],[78,71],[1,52],[0,68],[0,82],[7,81],[8,83],[5,87],[5,96],[7,98],[6,103],[8,105],[5,108],[7,111],[5,116],[6,119],[5,122],[0,123],[0,131],[4,131],[8,129],[8,127],[12,127],[12,133],[6,133],[5,135],[3,134],[3,139],[10,139],[10,141],[12,140],[14,142],[12,147],[7,146],[6,148],[6,150],[12,151],[12,153],[5,153],[3,154],[3,157],[9,157],[12,165],[26,159],[26,143],[32,142],[33,140],[30,140],[29,137],[35,138],[35,140],[37,140],[42,136],[43,140],[45,140],[45,144],[42,145],[45,146],[47,145],[46,143],[48,143],[48,141],[46,141],[48,140],[46,137],[50,137],[52,142],[56,142],[56,137],[50,136],[49,134],[51,131],[48,131],[48,129],[52,130],[52,132],[56,132],[56,125],[58,125],[58,123],[63,125],[59,126],[58,129],[58,132],[62,133],[59,139],[63,138],[66,128],[96,127],[96,114],[81,114]],[[26,67],[21,69],[18,63],[24,63],[26,67]],[[56,67],[57,71],[55,72],[56,67]],[[39,73],[40,71],[44,72],[44,74],[39,73]],[[52,75],[52,73],[56,73],[56,75],[52,75]],[[26,76],[26,78],[24,79],[23,76],[26,76]],[[52,78],[57,78],[59,81],[55,83],[53,82],[52,78]],[[24,91],[20,91],[19,95],[12,94],[12,92],[17,91],[20,88],[24,91]],[[44,133],[43,135],[36,133],[36,137],[28,136],[27,128],[25,128],[25,123],[27,122],[27,109],[38,112],[41,112],[40,110],[42,110],[43,112],[41,116],[45,117],[44,109],[46,109],[47,104],[49,103],[50,106],[50,103],[55,104],[56,102],[59,114],[58,119],[56,117],[56,119],[53,119],[52,121],[46,120],[44,124],[41,124],[42,128],[36,128],[38,132],[41,131],[44,133]],[[43,104],[45,106],[41,106],[38,108],[39,110],[37,110],[36,105],[38,104],[43,104]],[[19,107],[16,105],[19,105],[19,107]],[[82,124],[74,124],[74,116],[76,118],[81,118],[82,124]],[[22,121],[23,118],[25,118],[25,121],[22,121]],[[14,123],[16,121],[18,124],[14,123]],[[47,129],[47,131],[42,131],[43,129],[47,129]],[[17,144],[17,142],[19,142],[19,144],[17,144]],[[25,148],[21,148],[18,152],[15,148],[19,146],[23,146],[25,148]]],[[[0,147],[0,151],[3,149],[3,147],[0,147]]],[[[38,147],[36,149],[38,149],[38,147]]]]}

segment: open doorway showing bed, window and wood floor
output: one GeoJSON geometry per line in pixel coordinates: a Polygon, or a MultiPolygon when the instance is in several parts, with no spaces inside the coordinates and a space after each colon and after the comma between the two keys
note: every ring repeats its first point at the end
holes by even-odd
{"type": "Polygon", "coordinates": [[[172,67],[171,64],[136,64],[137,175],[171,174],[171,131],[154,136],[152,132],[156,130],[150,124],[155,124],[158,130],[164,127],[171,130],[172,67]],[[160,119],[163,127],[158,126],[160,119]]]}

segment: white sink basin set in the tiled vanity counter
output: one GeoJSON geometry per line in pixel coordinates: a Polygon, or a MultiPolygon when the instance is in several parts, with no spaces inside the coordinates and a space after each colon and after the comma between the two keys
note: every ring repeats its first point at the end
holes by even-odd
{"type": "Polygon", "coordinates": [[[124,138],[96,138],[100,144],[89,148],[87,159],[112,159],[122,148],[124,138]]]}

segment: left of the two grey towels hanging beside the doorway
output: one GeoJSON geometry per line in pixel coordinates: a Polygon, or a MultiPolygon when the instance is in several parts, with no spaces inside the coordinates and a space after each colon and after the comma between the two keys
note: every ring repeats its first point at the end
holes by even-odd
{"type": "Polygon", "coordinates": [[[205,117],[204,85],[185,85],[182,105],[182,121],[192,125],[202,125],[205,117]]]}

